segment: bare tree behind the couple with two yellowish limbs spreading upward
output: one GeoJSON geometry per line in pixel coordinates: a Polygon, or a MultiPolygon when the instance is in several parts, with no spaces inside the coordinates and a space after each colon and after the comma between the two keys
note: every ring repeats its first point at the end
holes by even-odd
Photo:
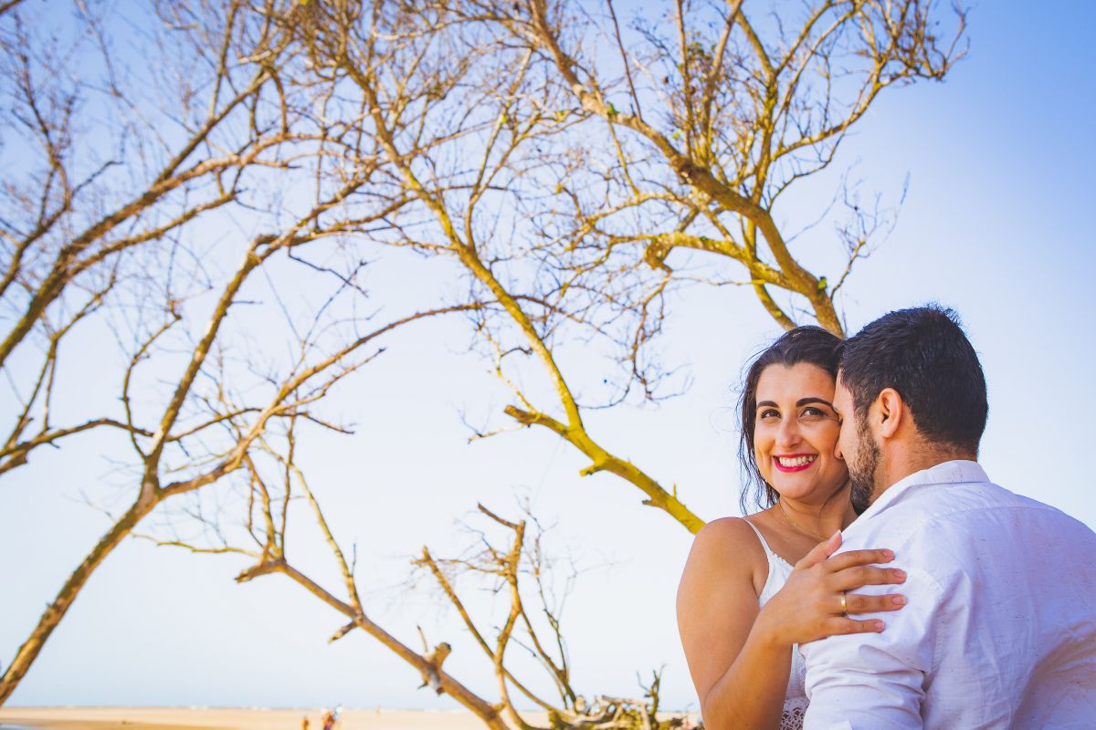
{"type": "Polygon", "coordinates": [[[704,522],[676,489],[602,447],[582,418],[633,384],[655,396],[666,371],[647,357],[648,345],[662,326],[667,287],[688,280],[674,276],[670,253],[696,248],[738,262],[781,325],[795,318],[774,287],[841,333],[834,293],[884,221],[850,206],[838,230],[848,259],[831,287],[795,258],[775,206],[831,164],[882,89],[940,79],[961,55],[934,34],[924,3],[818,2],[762,25],[742,4],[680,2],[669,37],[637,24],[631,50],[612,3],[598,24],[587,5],[545,0],[381,4],[361,22],[330,12],[311,46],[356,86],[399,184],[422,209],[415,220],[429,220],[384,240],[455,259],[472,296],[498,302],[475,324],[513,390],[506,414],[566,439],[590,459],[584,474],[625,478],[644,503],[694,532],[704,522]],[[609,42],[619,61],[615,72],[600,71],[605,54],[594,48],[609,42]],[[461,138],[459,152],[446,154],[444,144],[423,152],[416,135],[429,124],[386,112],[416,108],[449,78],[446,53],[461,59],[461,118],[481,119],[484,130],[461,138]],[[614,94],[630,112],[614,105],[614,94]],[[626,384],[581,403],[559,357],[574,337],[616,346],[626,384]],[[537,393],[511,376],[523,359],[546,376],[537,393]]]}

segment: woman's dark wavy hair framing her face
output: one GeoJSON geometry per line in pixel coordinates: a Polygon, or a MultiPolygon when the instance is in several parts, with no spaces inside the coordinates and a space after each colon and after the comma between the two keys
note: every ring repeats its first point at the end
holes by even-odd
{"type": "Polygon", "coordinates": [[[776,503],[779,495],[761,475],[754,455],[754,426],[757,419],[757,381],[765,368],[772,364],[791,367],[800,362],[818,366],[836,381],[840,362],[841,338],[827,329],[813,325],[796,327],[780,335],[765,348],[746,370],[739,396],[739,418],[742,434],[739,439],[739,462],[742,466],[742,491],[739,505],[746,513],[750,498],[760,509],[776,503]]]}

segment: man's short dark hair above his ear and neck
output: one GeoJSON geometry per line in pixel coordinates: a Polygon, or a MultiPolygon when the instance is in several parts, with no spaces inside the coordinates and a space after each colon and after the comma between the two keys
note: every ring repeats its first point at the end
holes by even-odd
{"type": "Polygon", "coordinates": [[[978,453],[989,416],[985,375],[952,310],[929,304],[890,312],[841,350],[841,382],[857,418],[892,387],[926,439],[978,453]]]}

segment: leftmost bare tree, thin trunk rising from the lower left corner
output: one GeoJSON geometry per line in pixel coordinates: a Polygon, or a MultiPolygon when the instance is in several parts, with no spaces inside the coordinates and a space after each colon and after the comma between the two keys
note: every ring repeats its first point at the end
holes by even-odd
{"type": "Polygon", "coordinates": [[[355,126],[324,118],[323,104],[334,93],[330,84],[297,84],[289,93],[283,76],[299,71],[307,58],[288,50],[293,34],[273,5],[255,13],[235,2],[165,4],[157,16],[162,35],[153,35],[152,45],[165,57],[158,68],[184,84],[184,105],[178,116],[163,112],[155,118],[147,103],[127,95],[109,53],[111,28],[84,15],[79,32],[103,54],[93,68],[105,69],[110,80],[106,108],[128,109],[121,129],[102,131],[117,132],[118,159],[90,173],[80,171],[87,160],[76,132],[84,125],[76,113],[79,94],[94,91],[94,80],[78,68],[60,74],[49,56],[56,45],[36,45],[21,10],[3,19],[15,104],[25,112],[16,115],[16,131],[36,136],[42,157],[38,167],[31,163],[23,178],[5,186],[11,215],[3,222],[10,245],[2,302],[14,324],[3,356],[16,348],[32,352],[35,345],[44,356],[32,367],[19,358],[3,362],[22,406],[2,466],[25,464],[35,449],[64,437],[112,427],[127,436],[128,453],[115,452],[115,459],[128,507],[109,513],[107,531],[4,668],[0,703],[93,571],[152,510],[243,467],[274,421],[304,418],[342,429],[322,418],[319,403],[376,355],[376,338],[468,309],[427,308],[368,328],[367,316],[339,310],[340,300],[365,293],[358,283],[364,262],[340,247],[340,236],[383,221],[406,198],[370,193],[377,154],[355,126]],[[72,86],[42,90],[59,78],[72,86]],[[175,138],[184,140],[178,149],[175,138]],[[170,160],[153,164],[160,157],[170,160]],[[148,176],[150,164],[156,172],[148,176]],[[220,217],[210,220],[214,212],[220,217]],[[233,232],[210,252],[203,241],[220,227],[233,232]],[[320,260],[330,264],[316,263],[309,253],[322,241],[332,247],[320,260]],[[255,280],[256,271],[264,281],[255,280]],[[315,291],[326,291],[326,299],[293,311],[279,274],[285,280],[315,278],[315,291]],[[262,304],[255,297],[266,299],[270,339],[261,345],[249,343],[248,308],[262,304]],[[81,368],[95,367],[84,352],[73,355],[66,371],[59,364],[62,338],[92,324],[101,335],[114,333],[123,355],[96,363],[116,374],[118,413],[56,427],[55,383],[66,375],[78,381],[81,368]],[[281,361],[266,357],[271,340],[286,348],[281,361]],[[35,419],[41,425],[28,434],[35,419]]]}

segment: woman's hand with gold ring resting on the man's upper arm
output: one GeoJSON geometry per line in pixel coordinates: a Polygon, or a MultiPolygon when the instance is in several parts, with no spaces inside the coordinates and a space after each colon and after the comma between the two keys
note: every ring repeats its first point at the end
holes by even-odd
{"type": "Polygon", "coordinates": [[[849,551],[830,557],[841,547],[841,533],[819,543],[796,564],[788,581],[761,610],[756,629],[777,646],[807,644],[836,634],[866,634],[883,630],[881,621],[857,621],[849,615],[898,611],[905,598],[848,593],[870,584],[901,583],[905,572],[879,568],[890,563],[888,549],[849,551]]]}

